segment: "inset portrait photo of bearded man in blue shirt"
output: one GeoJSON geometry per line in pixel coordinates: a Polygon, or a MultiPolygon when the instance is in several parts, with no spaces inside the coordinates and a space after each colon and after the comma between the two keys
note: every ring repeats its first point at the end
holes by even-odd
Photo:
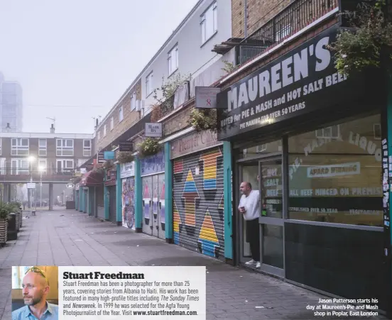
{"type": "Polygon", "coordinates": [[[12,320],[58,320],[58,267],[12,267],[12,320]]]}

